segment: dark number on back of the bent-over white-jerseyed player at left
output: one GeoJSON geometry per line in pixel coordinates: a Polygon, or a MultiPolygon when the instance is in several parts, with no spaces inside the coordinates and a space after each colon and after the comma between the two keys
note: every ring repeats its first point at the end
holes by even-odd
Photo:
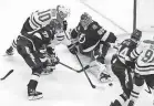
{"type": "Polygon", "coordinates": [[[49,13],[50,10],[39,12],[39,20],[44,22],[51,19],[51,14],[49,13]]]}

